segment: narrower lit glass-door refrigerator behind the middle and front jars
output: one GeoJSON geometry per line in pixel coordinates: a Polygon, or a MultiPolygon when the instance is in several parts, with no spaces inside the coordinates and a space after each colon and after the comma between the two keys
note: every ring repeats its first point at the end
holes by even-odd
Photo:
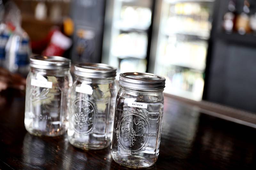
{"type": "Polygon", "coordinates": [[[155,0],[106,2],[102,63],[116,67],[117,75],[146,72],[155,0]]]}

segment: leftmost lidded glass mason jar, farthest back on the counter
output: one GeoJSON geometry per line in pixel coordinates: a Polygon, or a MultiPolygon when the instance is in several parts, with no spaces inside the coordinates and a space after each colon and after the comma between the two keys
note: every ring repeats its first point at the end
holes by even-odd
{"type": "Polygon", "coordinates": [[[71,61],[33,56],[27,77],[25,128],[36,136],[58,136],[67,130],[71,61]]]}

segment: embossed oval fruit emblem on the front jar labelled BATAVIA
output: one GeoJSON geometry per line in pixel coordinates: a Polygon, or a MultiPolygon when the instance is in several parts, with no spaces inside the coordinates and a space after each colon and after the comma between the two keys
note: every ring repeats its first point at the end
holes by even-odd
{"type": "Polygon", "coordinates": [[[140,115],[124,116],[119,125],[119,141],[128,151],[138,151],[148,140],[148,123],[140,115]]]}

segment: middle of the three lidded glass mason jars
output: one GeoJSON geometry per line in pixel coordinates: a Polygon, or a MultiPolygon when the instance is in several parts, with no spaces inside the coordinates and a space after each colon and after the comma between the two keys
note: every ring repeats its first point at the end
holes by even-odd
{"type": "Polygon", "coordinates": [[[68,140],[75,147],[102,149],[111,143],[116,100],[116,69],[106,64],[75,66],[68,140]]]}

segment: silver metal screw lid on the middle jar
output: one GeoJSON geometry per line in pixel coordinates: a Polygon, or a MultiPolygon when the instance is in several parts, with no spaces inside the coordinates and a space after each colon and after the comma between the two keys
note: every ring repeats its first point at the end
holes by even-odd
{"type": "Polygon", "coordinates": [[[74,73],[85,78],[114,78],[116,68],[101,63],[81,63],[75,65],[74,73]]]}

